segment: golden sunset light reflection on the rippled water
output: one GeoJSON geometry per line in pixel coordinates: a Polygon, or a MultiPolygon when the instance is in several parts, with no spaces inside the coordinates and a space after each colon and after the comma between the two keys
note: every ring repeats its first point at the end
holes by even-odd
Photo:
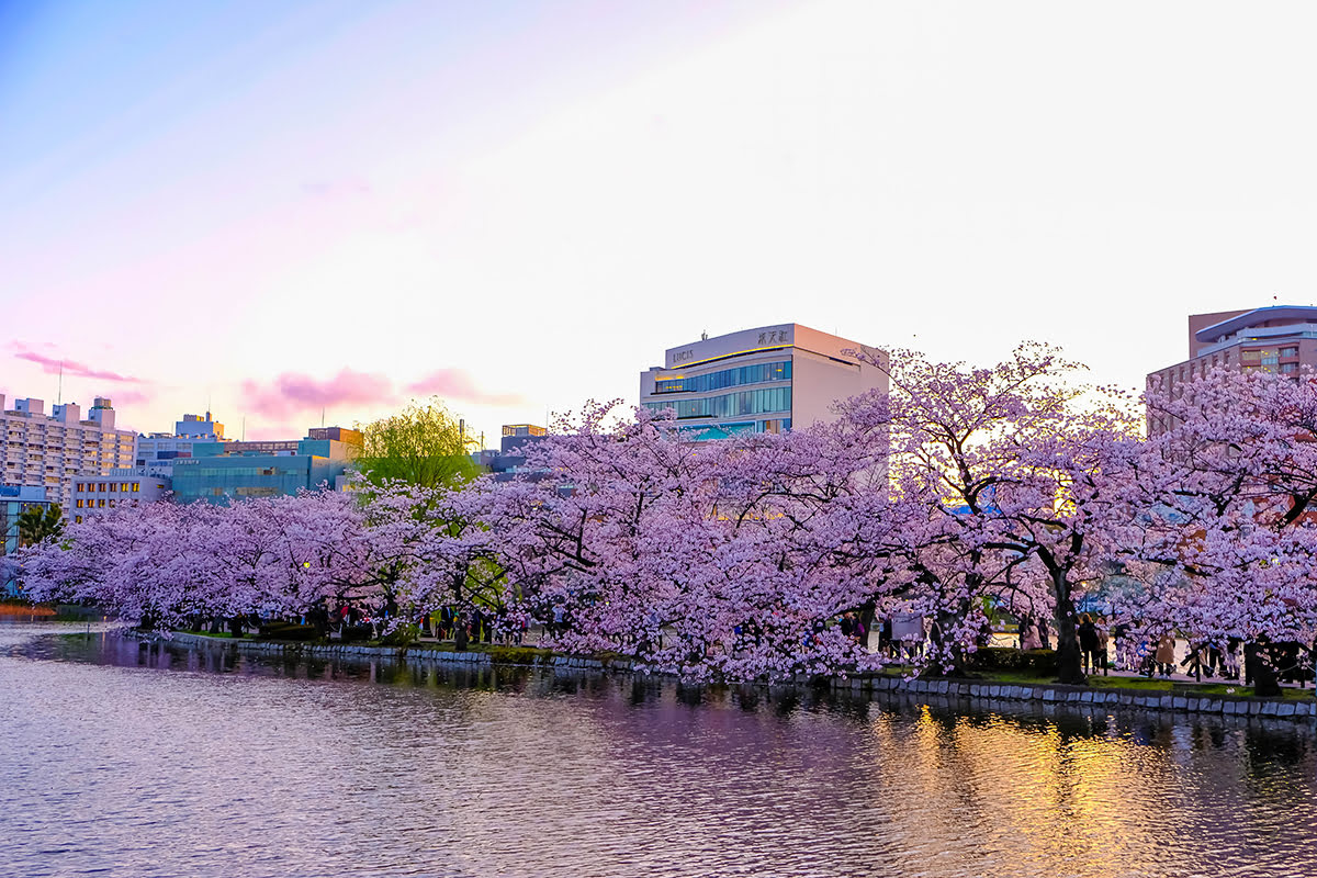
{"type": "Polygon", "coordinates": [[[917,708],[913,725],[906,720],[876,713],[872,767],[877,787],[911,790],[888,803],[893,832],[925,839],[932,861],[957,850],[985,865],[1005,861],[1009,874],[1056,874],[1064,864],[1062,874],[1114,878],[1131,874],[1131,864],[1164,858],[1185,824],[1220,824],[1222,816],[1197,813],[1192,795],[1167,795],[1184,792],[1179,763],[1192,762],[1193,729],[1177,729],[1183,740],[1167,731],[1155,741],[1160,746],[1147,746],[1114,732],[1101,713],[1071,719],[1087,723],[1084,735],[1055,721],[956,716],[927,706],[917,708]],[[1177,831],[1168,832],[1168,823],[1177,831]]]}

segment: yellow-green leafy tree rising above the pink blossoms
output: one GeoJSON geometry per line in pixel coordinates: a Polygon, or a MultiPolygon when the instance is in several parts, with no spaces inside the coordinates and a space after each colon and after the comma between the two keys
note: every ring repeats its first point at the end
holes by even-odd
{"type": "Polygon", "coordinates": [[[402,480],[427,488],[474,478],[479,467],[469,453],[477,442],[462,434],[457,419],[439,400],[407,408],[361,428],[357,469],[374,484],[402,480]]]}

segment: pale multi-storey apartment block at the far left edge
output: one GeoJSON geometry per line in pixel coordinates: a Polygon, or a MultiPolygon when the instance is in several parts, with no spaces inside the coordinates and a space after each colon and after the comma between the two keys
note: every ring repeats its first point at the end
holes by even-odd
{"type": "Polygon", "coordinates": [[[137,436],[115,429],[115,408],[97,396],[87,419],[75,403],[54,405],[45,415],[40,399],[14,400],[5,409],[0,394],[0,482],[46,490],[46,498],[68,515],[79,475],[104,475],[132,466],[137,436]]]}

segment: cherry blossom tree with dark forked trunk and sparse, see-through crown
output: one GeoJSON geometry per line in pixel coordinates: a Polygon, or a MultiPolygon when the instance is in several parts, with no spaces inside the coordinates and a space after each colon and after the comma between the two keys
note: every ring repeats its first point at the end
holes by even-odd
{"type": "Polygon", "coordinates": [[[1075,599],[1101,575],[1123,461],[1134,441],[1125,398],[1075,382],[1081,369],[1027,344],[992,367],[893,351],[886,399],[843,416],[885,423],[909,606],[935,619],[932,653],[959,669],[982,640],[984,598],[1050,613],[1059,675],[1083,682],[1075,599]]]}

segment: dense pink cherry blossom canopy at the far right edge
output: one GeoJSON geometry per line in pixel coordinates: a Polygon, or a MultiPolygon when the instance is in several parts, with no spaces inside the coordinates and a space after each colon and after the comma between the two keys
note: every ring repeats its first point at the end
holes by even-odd
{"type": "Polygon", "coordinates": [[[1216,370],[1147,394],[1123,559],[1142,632],[1223,645],[1317,631],[1317,379],[1216,370]]]}

